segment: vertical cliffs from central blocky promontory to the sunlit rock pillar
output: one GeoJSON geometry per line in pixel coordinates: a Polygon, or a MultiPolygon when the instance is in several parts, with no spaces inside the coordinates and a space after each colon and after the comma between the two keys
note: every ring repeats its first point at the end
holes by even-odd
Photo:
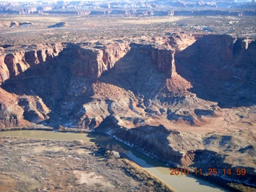
{"type": "Polygon", "coordinates": [[[106,46],[95,46],[94,49],[83,46],[67,46],[65,54],[72,55],[70,71],[74,75],[99,78],[104,71],[111,70],[115,63],[131,49],[138,49],[142,57],[151,57],[151,63],[163,73],[174,75],[174,50],[160,49],[151,45],[120,42],[106,46]]]}

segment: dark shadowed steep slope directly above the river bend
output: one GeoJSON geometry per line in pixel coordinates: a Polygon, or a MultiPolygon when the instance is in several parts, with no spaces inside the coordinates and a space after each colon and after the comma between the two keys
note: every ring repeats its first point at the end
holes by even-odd
{"type": "MultiPolygon", "coordinates": [[[[175,151],[167,139],[170,134],[180,134],[177,130],[167,130],[164,126],[138,126],[136,129],[126,129],[118,126],[116,118],[108,116],[98,126],[97,131],[109,134],[128,142],[132,147],[154,155],[164,162],[181,163],[182,154],[175,151]]],[[[129,147],[128,147],[129,148],[129,147]]],[[[145,165],[148,166],[148,165],[145,165]]]]}

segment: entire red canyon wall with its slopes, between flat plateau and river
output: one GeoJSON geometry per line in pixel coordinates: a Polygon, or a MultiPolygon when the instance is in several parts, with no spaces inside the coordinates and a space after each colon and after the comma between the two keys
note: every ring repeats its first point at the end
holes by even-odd
{"type": "Polygon", "coordinates": [[[2,130],[94,130],[180,166],[244,167],[218,176],[256,186],[256,41],[171,34],[2,50],[2,130]]]}

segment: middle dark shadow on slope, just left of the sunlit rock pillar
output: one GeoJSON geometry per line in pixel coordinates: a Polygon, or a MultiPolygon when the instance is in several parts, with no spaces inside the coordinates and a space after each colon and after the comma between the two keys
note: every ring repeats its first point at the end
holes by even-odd
{"type": "Polygon", "coordinates": [[[98,80],[143,95],[143,98],[155,98],[165,86],[168,75],[159,72],[152,64],[151,50],[151,46],[131,45],[130,51],[98,80]]]}

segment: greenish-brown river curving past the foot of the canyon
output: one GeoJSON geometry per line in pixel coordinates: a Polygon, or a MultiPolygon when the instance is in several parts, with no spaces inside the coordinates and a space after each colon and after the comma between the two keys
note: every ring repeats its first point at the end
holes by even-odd
{"type": "Polygon", "coordinates": [[[114,138],[109,138],[102,134],[75,134],[75,133],[59,133],[46,130],[13,130],[1,131],[0,136],[26,137],[26,138],[46,138],[58,141],[83,140],[87,142],[97,143],[108,150],[118,151],[122,157],[130,158],[151,174],[160,178],[167,185],[171,186],[178,192],[219,192],[227,191],[220,186],[206,182],[200,178],[195,178],[193,175],[170,175],[170,167],[159,162],[154,158],[148,157],[146,154],[127,146],[125,143],[119,142],[114,138]]]}

